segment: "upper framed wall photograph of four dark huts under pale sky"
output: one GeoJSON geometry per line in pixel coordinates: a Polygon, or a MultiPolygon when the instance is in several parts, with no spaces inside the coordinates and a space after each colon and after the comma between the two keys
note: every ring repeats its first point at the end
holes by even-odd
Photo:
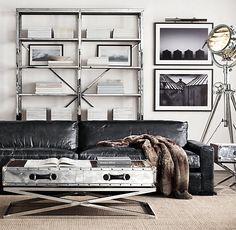
{"type": "Polygon", "coordinates": [[[212,65],[206,40],[212,23],[155,23],[155,65],[212,65]]]}

